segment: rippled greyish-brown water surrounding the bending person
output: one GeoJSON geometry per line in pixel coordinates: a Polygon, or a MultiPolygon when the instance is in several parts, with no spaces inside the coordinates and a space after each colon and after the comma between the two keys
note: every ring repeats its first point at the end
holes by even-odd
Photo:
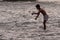
{"type": "Polygon", "coordinates": [[[40,2],[49,15],[47,30],[43,30],[43,16],[34,20],[37,2],[0,2],[0,40],[59,40],[60,4],[40,2]]]}

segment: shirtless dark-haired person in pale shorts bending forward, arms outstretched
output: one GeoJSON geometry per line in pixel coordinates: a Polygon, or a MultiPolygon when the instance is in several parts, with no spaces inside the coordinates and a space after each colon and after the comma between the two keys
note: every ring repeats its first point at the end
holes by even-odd
{"type": "Polygon", "coordinates": [[[47,13],[46,13],[45,10],[43,10],[42,8],[40,8],[39,4],[36,5],[36,8],[38,10],[38,13],[32,13],[32,15],[36,14],[37,16],[36,16],[35,20],[37,20],[37,18],[39,17],[40,13],[43,14],[43,17],[44,17],[43,25],[44,25],[44,30],[46,30],[46,22],[48,20],[48,15],[47,15],[47,13]]]}

